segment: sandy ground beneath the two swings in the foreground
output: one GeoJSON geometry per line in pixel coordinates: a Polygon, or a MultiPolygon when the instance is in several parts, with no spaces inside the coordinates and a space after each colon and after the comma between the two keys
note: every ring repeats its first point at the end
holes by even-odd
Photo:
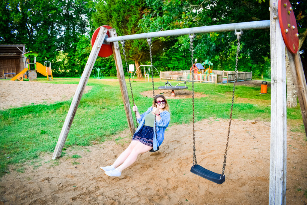
{"type": "MultiPolygon", "coordinates": [[[[218,173],[228,124],[221,119],[195,124],[197,162],[218,173]]],[[[307,204],[305,134],[288,128],[287,135],[286,201],[307,204]]],[[[160,150],[142,154],[121,177],[108,177],[99,167],[112,164],[128,146],[129,130],[111,141],[69,148],[57,161],[45,154],[41,166],[25,165],[24,173],[12,166],[0,179],[0,204],[268,204],[269,121],[232,121],[221,185],[190,172],[192,137],[191,124],[169,127],[160,150]],[[81,158],[72,158],[75,154],[81,158]]]]}

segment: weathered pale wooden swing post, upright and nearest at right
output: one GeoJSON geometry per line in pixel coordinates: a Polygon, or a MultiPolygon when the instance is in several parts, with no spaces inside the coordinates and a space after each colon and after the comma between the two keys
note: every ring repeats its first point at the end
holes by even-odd
{"type": "Polygon", "coordinates": [[[270,1],[271,144],[269,204],[286,204],[286,53],[278,20],[278,0],[270,1]]]}

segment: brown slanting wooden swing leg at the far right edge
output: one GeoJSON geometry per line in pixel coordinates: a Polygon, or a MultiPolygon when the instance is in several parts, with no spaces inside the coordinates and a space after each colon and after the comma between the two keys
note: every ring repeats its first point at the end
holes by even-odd
{"type": "Polygon", "coordinates": [[[305,134],[307,137],[307,85],[306,85],[306,79],[304,75],[303,65],[300,57],[300,53],[297,52],[295,54],[292,54],[287,49],[291,72],[293,75],[294,84],[296,87],[298,102],[300,104],[303,123],[305,127],[305,134]]]}

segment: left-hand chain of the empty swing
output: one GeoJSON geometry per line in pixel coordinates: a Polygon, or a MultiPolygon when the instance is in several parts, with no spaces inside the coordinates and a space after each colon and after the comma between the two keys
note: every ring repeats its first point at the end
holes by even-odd
{"type": "Polygon", "coordinates": [[[190,51],[191,51],[191,63],[192,63],[192,110],[193,110],[193,167],[194,165],[197,165],[197,160],[196,160],[196,148],[195,148],[195,116],[194,116],[194,69],[193,69],[193,55],[194,55],[194,50],[193,50],[193,41],[195,38],[194,34],[189,34],[189,38],[190,38],[190,51]]]}

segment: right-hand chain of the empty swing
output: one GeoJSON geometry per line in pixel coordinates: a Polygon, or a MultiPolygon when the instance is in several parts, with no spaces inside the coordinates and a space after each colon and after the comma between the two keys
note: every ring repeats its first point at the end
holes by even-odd
{"type": "Polygon", "coordinates": [[[237,56],[236,56],[236,59],[235,59],[235,80],[233,82],[232,101],[231,101],[231,110],[230,110],[230,117],[229,117],[229,127],[228,127],[227,143],[226,143],[226,149],[225,149],[225,154],[224,154],[223,171],[222,171],[221,177],[224,176],[224,171],[225,171],[225,167],[226,167],[227,147],[228,147],[230,126],[231,126],[232,108],[233,108],[233,102],[234,102],[234,99],[235,99],[235,82],[237,81],[237,75],[238,75],[238,70],[237,70],[238,69],[238,58],[239,58],[239,51],[240,51],[240,39],[241,39],[241,35],[242,34],[243,34],[242,30],[240,32],[237,32],[235,30],[235,35],[237,36],[237,39],[238,39],[237,56]]]}

